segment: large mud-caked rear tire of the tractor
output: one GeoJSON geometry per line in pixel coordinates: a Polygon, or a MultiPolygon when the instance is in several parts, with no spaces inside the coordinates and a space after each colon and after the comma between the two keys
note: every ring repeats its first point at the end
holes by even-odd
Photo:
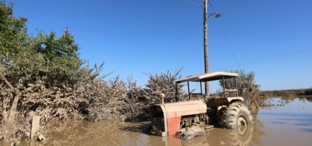
{"type": "Polygon", "coordinates": [[[220,125],[223,128],[234,129],[240,128],[242,125],[254,124],[251,112],[242,103],[234,102],[221,113],[220,125]]]}

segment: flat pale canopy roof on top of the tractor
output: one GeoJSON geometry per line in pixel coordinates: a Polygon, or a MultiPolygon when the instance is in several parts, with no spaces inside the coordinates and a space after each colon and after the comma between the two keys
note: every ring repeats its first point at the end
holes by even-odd
{"type": "Polygon", "coordinates": [[[231,78],[231,77],[238,76],[238,74],[237,73],[228,73],[228,72],[203,73],[203,74],[192,75],[192,76],[189,76],[186,78],[181,78],[181,79],[177,80],[176,83],[214,81],[214,80],[222,79],[222,76],[224,78],[231,78]]]}

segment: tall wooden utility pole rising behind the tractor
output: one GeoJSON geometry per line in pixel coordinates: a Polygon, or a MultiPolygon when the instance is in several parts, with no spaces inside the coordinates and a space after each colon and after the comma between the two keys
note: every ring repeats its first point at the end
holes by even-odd
{"type": "MultiPolygon", "coordinates": [[[[202,0],[204,3],[204,60],[205,60],[205,73],[209,72],[209,64],[208,64],[208,4],[207,0],[202,0]]],[[[205,94],[206,98],[209,98],[209,83],[205,82],[205,94]]]]}

